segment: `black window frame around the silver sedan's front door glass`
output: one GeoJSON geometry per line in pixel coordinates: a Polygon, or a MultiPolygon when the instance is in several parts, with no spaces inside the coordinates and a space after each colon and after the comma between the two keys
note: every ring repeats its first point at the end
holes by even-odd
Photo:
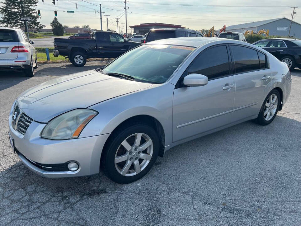
{"type": "MultiPolygon", "coordinates": [[[[230,48],[228,46],[229,44],[228,43],[222,43],[222,44],[217,44],[217,45],[214,45],[214,46],[209,46],[207,47],[206,49],[203,49],[197,56],[194,57],[194,59],[190,62],[190,64],[186,67],[185,71],[182,73],[181,77],[178,79],[177,83],[176,83],[176,86],[175,86],[175,89],[178,89],[178,88],[182,88],[182,87],[185,87],[182,82],[183,82],[183,79],[187,76],[187,70],[189,69],[189,67],[193,64],[193,62],[195,61],[195,59],[200,56],[204,51],[207,51],[211,48],[214,48],[214,47],[218,47],[218,46],[226,46],[226,49],[227,49],[227,53],[228,53],[228,60],[229,60],[229,74],[227,75],[224,75],[224,76],[219,76],[219,77],[215,77],[215,78],[208,78],[208,81],[211,81],[211,80],[215,80],[215,79],[219,79],[219,78],[225,78],[225,77],[230,77],[230,76],[233,76],[233,61],[232,61],[232,57],[231,57],[231,54],[230,54],[230,48]]],[[[259,59],[259,58],[258,58],[259,59]]]]}

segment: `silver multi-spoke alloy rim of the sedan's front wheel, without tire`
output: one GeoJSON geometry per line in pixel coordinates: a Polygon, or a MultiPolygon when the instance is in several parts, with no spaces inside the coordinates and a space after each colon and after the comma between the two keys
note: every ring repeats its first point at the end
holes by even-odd
{"type": "Polygon", "coordinates": [[[115,168],[123,176],[137,175],[150,163],[153,151],[153,142],[147,134],[132,134],[119,145],[115,168]]]}

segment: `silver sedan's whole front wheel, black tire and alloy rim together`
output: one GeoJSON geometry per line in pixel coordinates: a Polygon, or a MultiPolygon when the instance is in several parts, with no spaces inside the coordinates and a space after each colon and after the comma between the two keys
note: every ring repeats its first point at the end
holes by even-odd
{"type": "Polygon", "coordinates": [[[109,139],[102,166],[108,177],[117,183],[127,184],[140,179],[157,159],[158,135],[148,125],[124,127],[109,139]]]}

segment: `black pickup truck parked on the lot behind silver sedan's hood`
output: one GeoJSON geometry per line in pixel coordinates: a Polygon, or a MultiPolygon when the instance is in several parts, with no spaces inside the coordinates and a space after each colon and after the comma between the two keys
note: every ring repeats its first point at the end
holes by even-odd
{"type": "Polygon", "coordinates": [[[131,42],[116,32],[94,31],[91,39],[54,39],[53,56],[67,56],[77,67],[86,64],[87,58],[117,58],[142,43],[131,42]]]}

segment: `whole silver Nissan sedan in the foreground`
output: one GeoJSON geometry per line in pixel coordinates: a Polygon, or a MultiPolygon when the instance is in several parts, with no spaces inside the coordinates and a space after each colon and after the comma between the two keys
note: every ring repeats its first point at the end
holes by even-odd
{"type": "Polygon", "coordinates": [[[9,114],[9,137],[39,175],[85,176],[103,167],[129,183],[180,143],[251,119],[268,125],[290,91],[288,67],[257,46],[157,40],[23,92],[9,114]]]}

